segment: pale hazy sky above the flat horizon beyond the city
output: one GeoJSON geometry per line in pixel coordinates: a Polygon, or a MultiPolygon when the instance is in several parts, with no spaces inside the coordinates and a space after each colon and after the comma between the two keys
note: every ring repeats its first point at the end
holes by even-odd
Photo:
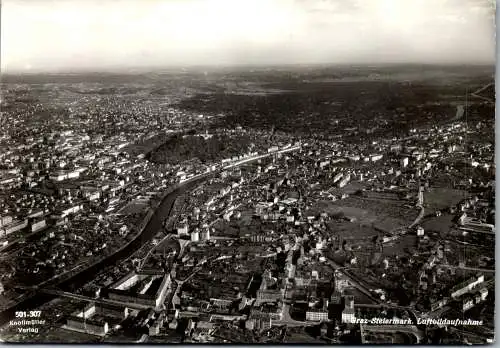
{"type": "Polygon", "coordinates": [[[495,0],[2,0],[1,69],[495,61],[495,0]]]}

